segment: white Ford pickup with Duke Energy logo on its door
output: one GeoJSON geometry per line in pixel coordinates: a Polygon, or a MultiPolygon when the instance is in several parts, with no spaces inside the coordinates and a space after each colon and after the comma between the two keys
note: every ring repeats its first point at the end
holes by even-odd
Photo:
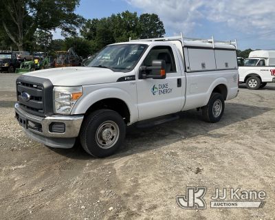
{"type": "Polygon", "coordinates": [[[196,108],[218,122],[224,101],[238,94],[238,79],[232,43],[182,36],[115,43],[88,67],[17,78],[16,118],[37,142],[71,148],[79,138],[87,153],[106,157],[130,124],[196,108]]]}

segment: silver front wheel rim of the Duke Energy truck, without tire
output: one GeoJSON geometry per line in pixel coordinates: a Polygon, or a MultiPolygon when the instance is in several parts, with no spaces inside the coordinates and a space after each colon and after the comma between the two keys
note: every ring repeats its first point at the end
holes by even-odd
{"type": "Polygon", "coordinates": [[[120,129],[113,121],[106,121],[98,126],[96,131],[96,143],[100,148],[108,149],[118,142],[120,129]]]}

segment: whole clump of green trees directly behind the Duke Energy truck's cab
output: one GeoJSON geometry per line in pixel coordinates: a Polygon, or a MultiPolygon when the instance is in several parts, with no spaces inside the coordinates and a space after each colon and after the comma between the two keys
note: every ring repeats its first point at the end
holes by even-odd
{"type": "Polygon", "coordinates": [[[102,19],[89,19],[80,29],[80,34],[91,42],[91,52],[102,47],[131,39],[155,38],[165,34],[164,25],[157,14],[142,14],[125,11],[102,19]]]}

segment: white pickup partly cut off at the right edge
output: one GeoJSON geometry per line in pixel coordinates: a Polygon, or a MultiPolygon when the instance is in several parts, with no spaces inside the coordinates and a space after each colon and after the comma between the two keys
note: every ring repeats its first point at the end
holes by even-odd
{"type": "Polygon", "coordinates": [[[248,89],[259,89],[267,83],[275,83],[275,51],[255,50],[250,52],[244,65],[239,67],[240,83],[248,89]]]}

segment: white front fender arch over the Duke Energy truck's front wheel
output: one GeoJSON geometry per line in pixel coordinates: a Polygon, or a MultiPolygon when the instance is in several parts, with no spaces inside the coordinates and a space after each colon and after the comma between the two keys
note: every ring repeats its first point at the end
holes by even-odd
{"type": "Polygon", "coordinates": [[[118,98],[124,101],[129,109],[130,112],[130,122],[129,124],[133,124],[138,120],[138,110],[137,110],[137,103],[134,103],[133,98],[129,96],[129,94],[124,91],[123,89],[119,89],[117,87],[104,87],[99,88],[94,91],[91,91],[85,94],[86,89],[83,89],[83,95],[75,104],[74,108],[72,109],[71,114],[84,114],[86,113],[87,109],[91,107],[94,103],[103,100],[105,98],[118,98]]]}

